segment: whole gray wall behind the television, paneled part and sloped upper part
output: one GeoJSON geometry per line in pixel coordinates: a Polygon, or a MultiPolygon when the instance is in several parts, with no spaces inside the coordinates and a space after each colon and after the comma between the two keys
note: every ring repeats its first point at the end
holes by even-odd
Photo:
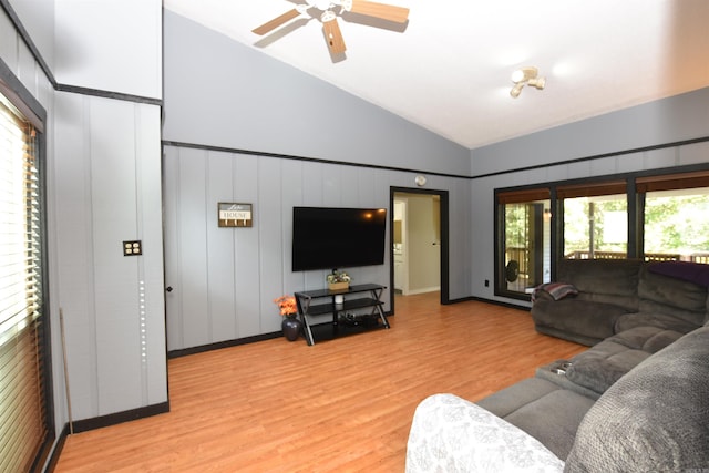
{"type": "MultiPolygon", "coordinates": [[[[347,162],[470,174],[469,150],[169,11],[163,138],[225,147],[164,148],[169,350],[277,331],[275,297],[326,286],[327,271],[290,269],[294,206],[389,209],[391,186],[414,185],[414,171],[347,162]],[[218,228],[218,202],[253,204],[254,227],[218,228]]],[[[432,175],[427,188],[449,191],[451,213],[470,215],[467,178],[432,175]]],[[[470,219],[456,218],[452,276],[467,273],[469,235],[470,219]]],[[[390,286],[389,267],[387,251],[383,266],[349,273],[390,286]]],[[[469,291],[465,276],[451,278],[451,298],[469,291]]]]}

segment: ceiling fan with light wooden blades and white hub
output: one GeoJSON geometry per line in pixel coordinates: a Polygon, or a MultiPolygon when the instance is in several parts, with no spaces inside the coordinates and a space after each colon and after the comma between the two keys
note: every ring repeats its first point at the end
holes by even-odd
{"type": "Polygon", "coordinates": [[[408,8],[368,0],[305,0],[305,3],[296,6],[292,10],[251,31],[264,35],[301,14],[308,14],[312,18],[319,17],[330,53],[342,54],[346,51],[345,39],[337,18],[343,12],[363,14],[394,23],[405,23],[409,19],[408,8]]]}

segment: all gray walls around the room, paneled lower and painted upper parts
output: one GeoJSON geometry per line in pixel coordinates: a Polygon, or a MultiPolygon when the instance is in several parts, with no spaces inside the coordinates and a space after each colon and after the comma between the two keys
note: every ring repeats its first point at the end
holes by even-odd
{"type": "MultiPolygon", "coordinates": [[[[10,4],[58,82],[162,97],[160,1],[10,4]]],[[[467,176],[472,169],[481,176],[709,135],[705,89],[470,152],[169,12],[164,38],[166,140],[342,163],[166,146],[169,260],[163,265],[160,106],[55,92],[52,78],[0,12],[0,58],[48,111],[50,320],[59,430],[68,420],[60,307],[68,321],[74,419],[160,403],[167,400],[163,266],[169,284],[177,285],[175,296],[184,298],[167,302],[168,317],[175,304],[182,310],[171,319],[172,348],[269,332],[279,322],[274,297],[323,285],[319,271],[288,269],[294,205],[388,207],[389,186],[413,187],[419,171],[467,176]],[[254,204],[253,228],[217,232],[215,204],[229,199],[254,204]],[[121,241],[134,238],[143,240],[145,256],[122,257],[121,241]],[[201,245],[194,255],[192,243],[201,245]],[[224,275],[229,277],[217,282],[224,275]],[[207,315],[195,313],[203,304],[207,315]]],[[[707,163],[708,156],[701,143],[472,182],[428,176],[428,188],[450,193],[450,298],[494,299],[492,287],[483,287],[493,276],[494,188],[707,163]]],[[[388,266],[354,277],[387,284],[388,266]]]]}

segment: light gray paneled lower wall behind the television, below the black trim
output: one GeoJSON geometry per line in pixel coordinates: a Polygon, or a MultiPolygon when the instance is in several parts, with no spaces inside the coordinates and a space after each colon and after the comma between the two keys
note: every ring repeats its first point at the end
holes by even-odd
{"type": "MultiPolygon", "coordinates": [[[[182,350],[280,330],[273,299],[326,287],[327,270],[291,270],[294,206],[384,207],[389,188],[410,183],[410,173],[291,158],[164,147],[165,268],[168,350],[182,350]],[[219,228],[219,202],[254,206],[254,226],[219,228]]],[[[466,215],[467,181],[439,178],[466,215]],[[462,195],[458,195],[462,193],[462,195]]],[[[470,219],[452,220],[452,246],[470,253],[470,219]]],[[[337,232],[333,228],[333,234],[337,232]]],[[[389,239],[387,238],[387,241],[389,239]]],[[[389,281],[382,266],[348,268],[354,284],[389,281]]],[[[464,261],[451,264],[464,275],[464,261]]],[[[451,291],[461,295],[466,278],[451,291]]],[[[389,292],[384,294],[390,308],[389,292]]]]}

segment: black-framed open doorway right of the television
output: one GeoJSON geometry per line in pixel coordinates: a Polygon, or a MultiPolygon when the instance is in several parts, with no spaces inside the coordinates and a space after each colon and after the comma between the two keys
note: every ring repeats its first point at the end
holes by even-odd
{"type": "Polygon", "coordinates": [[[449,300],[448,191],[391,187],[390,300],[394,296],[440,291],[449,300]]]}

